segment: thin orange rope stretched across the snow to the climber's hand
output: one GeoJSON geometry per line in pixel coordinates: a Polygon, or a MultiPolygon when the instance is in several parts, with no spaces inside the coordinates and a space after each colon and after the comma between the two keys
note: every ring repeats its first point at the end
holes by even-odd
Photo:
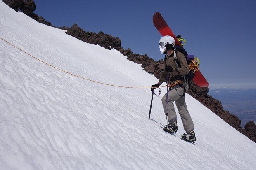
{"type": "MultiPolygon", "coordinates": [[[[65,71],[65,70],[63,70],[63,69],[57,68],[57,67],[55,67],[55,66],[53,66],[53,65],[51,65],[51,64],[49,64],[49,63],[46,63],[45,61],[40,60],[39,58],[33,56],[32,54],[29,54],[29,53],[27,53],[26,51],[24,51],[24,50],[20,49],[19,47],[15,46],[14,44],[8,42],[7,40],[3,39],[2,37],[0,37],[0,39],[3,40],[3,41],[5,41],[5,42],[7,42],[7,43],[10,44],[10,45],[12,45],[13,47],[19,49],[20,51],[24,52],[24,53],[27,54],[28,56],[31,56],[32,58],[34,58],[34,59],[40,61],[41,63],[44,63],[44,64],[46,64],[46,65],[48,65],[48,66],[50,66],[50,67],[52,67],[52,68],[55,68],[55,69],[60,70],[60,71],[62,71],[62,72],[65,72],[66,74],[69,74],[69,75],[72,75],[72,76],[75,76],[75,77],[78,77],[78,78],[81,78],[81,79],[85,79],[85,80],[88,80],[88,81],[90,81],[90,82],[95,82],[95,83],[99,83],[99,84],[104,84],[104,85],[107,85],[107,86],[122,87],[122,88],[151,88],[151,87],[118,86],[118,85],[114,85],[114,84],[107,84],[107,83],[102,83],[102,82],[98,82],[98,81],[95,81],[95,80],[87,79],[87,78],[85,78],[85,77],[82,77],[82,76],[79,76],[79,75],[75,75],[75,74],[73,74],[73,73],[71,73],[71,72],[67,72],[67,71],[65,71]]],[[[165,86],[161,86],[161,87],[165,87],[165,86]]]]}

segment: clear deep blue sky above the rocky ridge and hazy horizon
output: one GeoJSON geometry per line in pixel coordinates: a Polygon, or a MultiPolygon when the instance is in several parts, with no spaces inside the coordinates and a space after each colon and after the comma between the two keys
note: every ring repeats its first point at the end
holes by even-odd
{"type": "Polygon", "coordinates": [[[161,35],[152,23],[158,11],[174,34],[187,40],[187,52],[200,59],[209,88],[256,89],[255,0],[35,2],[35,13],[55,26],[77,23],[86,31],[103,31],[119,37],[125,49],[154,60],[164,58],[158,45],[161,35]]]}

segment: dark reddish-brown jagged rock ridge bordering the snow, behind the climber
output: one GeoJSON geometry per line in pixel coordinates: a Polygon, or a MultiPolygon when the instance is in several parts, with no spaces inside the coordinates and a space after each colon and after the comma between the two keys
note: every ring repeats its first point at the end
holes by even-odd
{"type": "MultiPolygon", "coordinates": [[[[5,4],[12,7],[15,11],[18,12],[20,10],[24,14],[30,16],[35,19],[39,23],[43,23],[48,26],[53,26],[50,22],[45,21],[43,17],[34,14],[33,11],[36,9],[36,4],[34,0],[2,0],[5,4]]],[[[119,50],[124,56],[127,56],[127,59],[133,61],[135,63],[141,64],[143,70],[150,74],[154,74],[156,78],[161,77],[161,72],[164,70],[164,61],[154,61],[152,58],[149,58],[147,54],[134,54],[130,48],[124,49],[121,47],[121,40],[118,37],[112,37],[111,35],[104,34],[103,32],[93,33],[87,32],[81,29],[77,24],[73,24],[70,28],[63,26],[57,27],[63,30],[67,30],[67,34],[78,38],[87,43],[98,44],[106,49],[116,49],[119,50]]],[[[154,83],[154,82],[152,82],[154,83]]],[[[195,99],[201,102],[203,105],[208,107],[212,112],[217,114],[221,119],[226,121],[230,126],[237,129],[240,133],[246,135],[249,139],[256,142],[256,125],[253,121],[249,121],[245,128],[241,127],[241,120],[230,114],[228,111],[223,109],[221,102],[212,98],[211,95],[208,95],[209,92],[208,87],[203,88],[199,87],[194,82],[190,83],[190,88],[187,91],[188,94],[192,95],[195,99]]]]}

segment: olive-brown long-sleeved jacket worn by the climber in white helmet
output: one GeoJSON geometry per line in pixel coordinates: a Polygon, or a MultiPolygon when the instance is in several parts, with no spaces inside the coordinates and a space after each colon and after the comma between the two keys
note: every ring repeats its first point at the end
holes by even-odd
{"type": "MultiPolygon", "coordinates": [[[[175,51],[173,52],[173,54],[175,51]]],[[[171,54],[171,56],[168,56],[166,54],[165,59],[166,59],[166,64],[164,65],[164,71],[162,72],[161,78],[159,79],[158,84],[161,85],[163,82],[166,81],[166,77],[168,75],[168,72],[165,71],[166,66],[170,65],[173,70],[170,72],[170,80],[175,81],[175,77],[179,75],[187,75],[189,72],[189,68],[187,65],[187,60],[185,56],[178,51],[177,53],[177,58],[178,61],[180,62],[180,66],[175,63],[174,55],[171,54]]],[[[171,81],[170,81],[171,82],[171,81]]]]}

